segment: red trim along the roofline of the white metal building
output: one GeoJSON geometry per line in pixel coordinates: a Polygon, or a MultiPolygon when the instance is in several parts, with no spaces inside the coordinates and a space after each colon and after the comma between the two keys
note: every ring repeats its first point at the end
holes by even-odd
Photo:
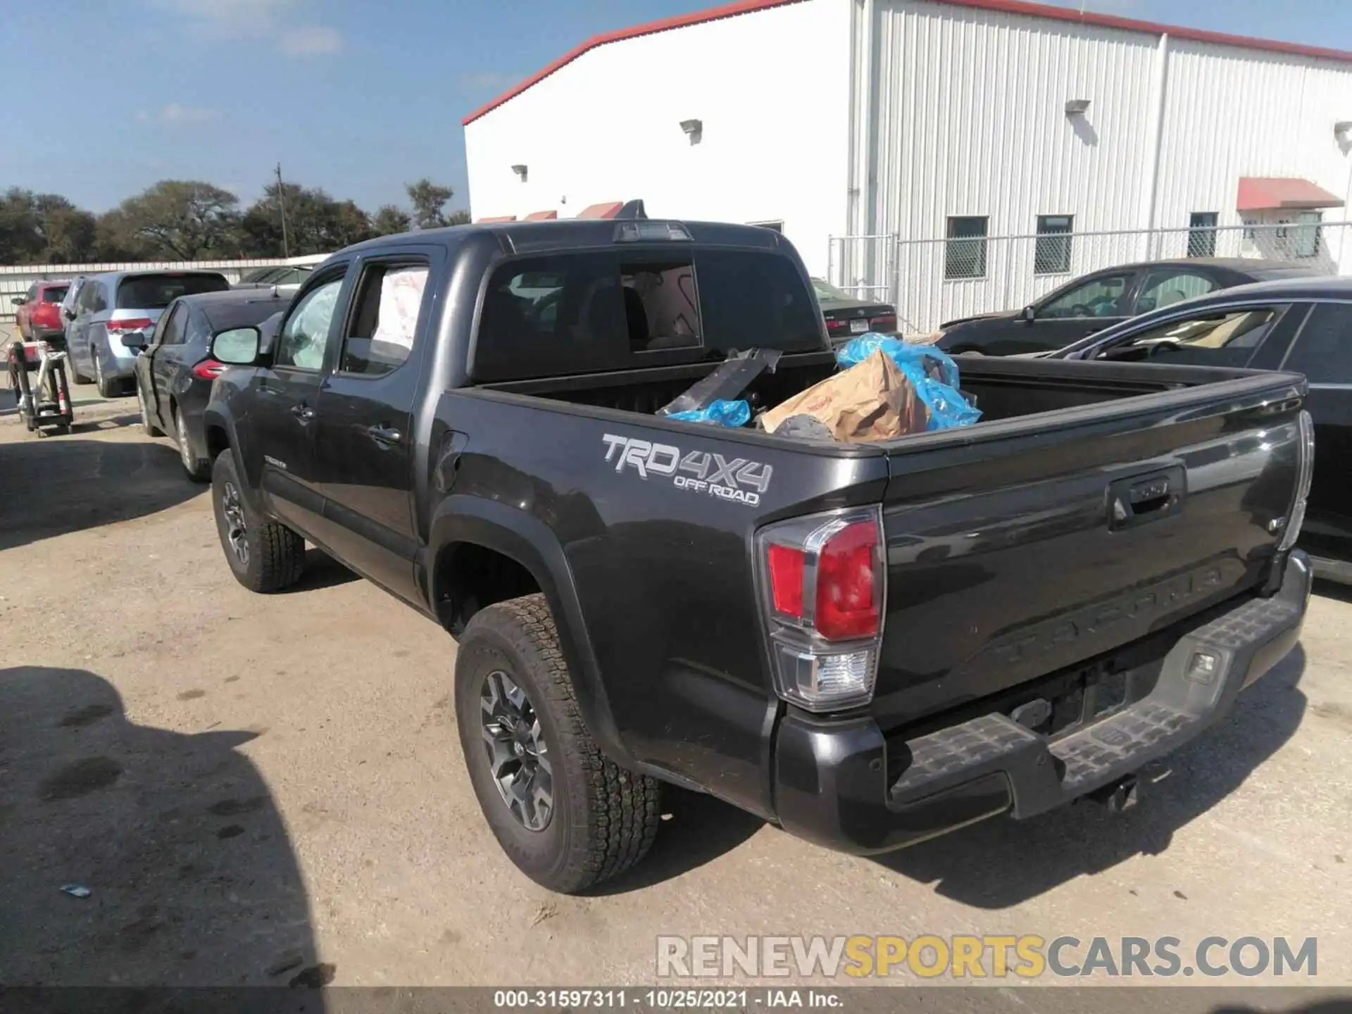
{"type": "MultiPolygon", "coordinates": [[[[1217,46],[1238,46],[1241,49],[1255,49],[1264,53],[1284,53],[1287,55],[1298,57],[1318,57],[1322,59],[1336,59],[1344,64],[1352,64],[1352,51],[1343,49],[1324,49],[1322,46],[1303,46],[1297,42],[1276,42],[1274,39],[1255,39],[1248,35],[1228,35],[1220,31],[1205,31],[1202,28],[1182,28],[1176,24],[1161,24],[1159,22],[1141,22],[1134,18],[1117,18],[1111,14],[1094,14],[1086,11],[1080,14],[1068,7],[1052,7],[1049,4],[1034,4],[1025,3],[1025,0],[938,0],[940,3],[952,4],[955,7],[975,7],[982,11],[999,11],[1003,14],[1023,14],[1032,18],[1051,18],[1057,22],[1071,22],[1075,24],[1094,24],[1101,28],[1122,28],[1124,31],[1141,31],[1151,35],[1168,34],[1175,39],[1187,39],[1190,42],[1210,42],[1217,46]]],[[[539,84],[546,77],[549,77],[556,70],[560,70],[569,64],[572,64],[577,57],[588,53],[599,46],[604,46],[610,42],[622,42],[625,39],[635,39],[641,35],[656,35],[657,32],[671,31],[672,28],[684,28],[691,24],[703,24],[704,22],[717,22],[723,18],[735,18],[741,14],[754,14],[756,11],[767,11],[772,7],[787,7],[788,4],[802,3],[802,0],[740,0],[738,3],[725,4],[723,7],[711,7],[707,11],[695,11],[694,14],[684,14],[677,18],[664,18],[657,22],[648,22],[646,24],[635,24],[631,28],[617,28],[615,31],[607,31],[600,35],[592,35],[589,39],[583,42],[580,46],[575,46],[568,53],[561,55],[549,66],[542,70],[537,70],[534,74],[527,77],[519,85],[511,91],[503,92],[492,101],[479,107],[472,114],[465,116],[461,123],[469,126],[477,120],[484,114],[492,112],[499,105],[506,103],[508,99],[515,99],[518,95],[525,92],[531,85],[539,84]]]]}

